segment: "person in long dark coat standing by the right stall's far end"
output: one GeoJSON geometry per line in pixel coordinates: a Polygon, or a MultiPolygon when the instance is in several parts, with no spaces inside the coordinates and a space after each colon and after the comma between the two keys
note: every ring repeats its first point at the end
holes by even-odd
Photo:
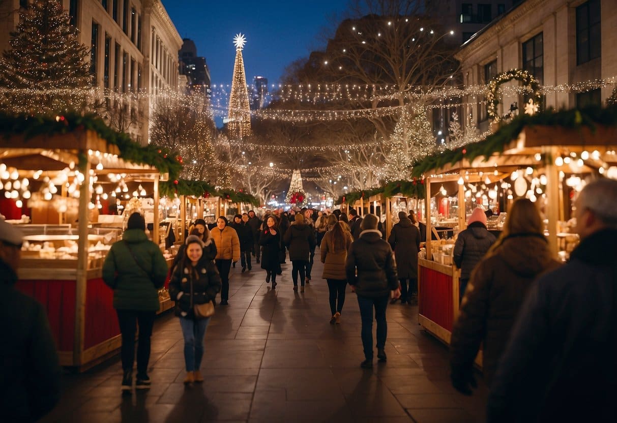
{"type": "MultiPolygon", "coordinates": [[[[420,251],[420,231],[407,218],[405,211],[399,211],[399,223],[392,226],[387,242],[394,250],[396,270],[400,281],[400,303],[411,304],[411,297],[418,295],[418,252],[420,251]],[[409,281],[409,288],[407,288],[409,281]]],[[[417,298],[417,297],[416,297],[417,298]]],[[[396,302],[392,298],[391,304],[396,302]]]]}

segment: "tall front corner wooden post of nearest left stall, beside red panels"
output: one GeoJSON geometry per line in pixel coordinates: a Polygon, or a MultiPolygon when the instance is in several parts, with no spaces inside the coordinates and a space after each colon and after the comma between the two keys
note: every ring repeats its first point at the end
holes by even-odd
{"type": "MultiPolygon", "coordinates": [[[[87,155],[88,152],[81,151],[87,155]]],[[[80,172],[85,179],[79,188],[77,274],[75,278],[75,332],[73,334],[73,366],[81,366],[83,357],[83,338],[86,316],[86,289],[88,289],[88,214],[90,203],[90,162],[86,162],[80,172]]]]}

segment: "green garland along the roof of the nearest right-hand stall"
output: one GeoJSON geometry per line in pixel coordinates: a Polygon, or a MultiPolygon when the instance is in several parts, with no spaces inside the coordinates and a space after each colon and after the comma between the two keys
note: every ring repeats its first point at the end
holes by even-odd
{"type": "Polygon", "coordinates": [[[587,126],[592,131],[595,130],[595,125],[617,126],[617,106],[602,109],[594,105],[585,109],[562,110],[556,113],[549,109],[532,116],[520,115],[494,134],[487,136],[484,141],[424,157],[420,162],[413,164],[412,175],[419,177],[430,170],[454,165],[463,158],[470,162],[476,157],[489,158],[495,153],[503,152],[503,148],[516,139],[525,126],[535,125],[562,126],[571,129],[587,126]]]}

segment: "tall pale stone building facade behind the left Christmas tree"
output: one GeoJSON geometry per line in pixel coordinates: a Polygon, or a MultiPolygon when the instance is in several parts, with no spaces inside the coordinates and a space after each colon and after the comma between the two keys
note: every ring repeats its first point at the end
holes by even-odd
{"type": "MultiPolygon", "coordinates": [[[[20,7],[27,3],[0,2],[2,51],[9,47],[9,32],[17,27],[20,7]]],[[[91,48],[93,84],[125,94],[110,100],[110,126],[146,144],[154,96],[167,89],[178,91],[182,38],[165,7],[160,0],[62,0],[62,5],[80,30],[80,43],[91,48]],[[146,95],[139,101],[127,95],[137,93],[146,95]]]]}

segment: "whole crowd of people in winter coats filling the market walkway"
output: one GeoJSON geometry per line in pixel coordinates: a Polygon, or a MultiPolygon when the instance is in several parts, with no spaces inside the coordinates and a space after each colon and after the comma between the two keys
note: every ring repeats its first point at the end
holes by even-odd
{"type": "MultiPolygon", "coordinates": [[[[186,384],[204,380],[200,366],[209,310],[219,292],[220,304],[228,304],[231,266],[242,260],[242,272],[250,271],[255,257],[276,289],[288,250],[293,289],[302,292],[310,283],[317,245],[329,288],[329,322],[341,323],[349,284],[362,322],[365,360],[360,366],[373,367],[373,319],[378,361],[387,360],[387,305],[398,298],[410,302],[417,287],[415,216],[399,213],[386,241],[375,215],[360,218],[350,210],[347,219],[344,213],[313,213],[274,211],[260,220],[251,211],[234,216],[232,224],[220,217],[211,231],[205,221],[194,222],[169,285],[184,336],[186,384]]],[[[581,243],[565,265],[552,258],[539,211],[526,199],[513,202],[497,239],[486,232],[486,215],[479,208],[459,234],[454,257],[468,281],[452,331],[451,378],[458,391],[471,395],[473,363],[482,347],[490,388],[488,422],[615,418],[617,181],[587,184],[576,200],[575,216],[581,243]]],[[[0,321],[11,346],[2,352],[2,380],[14,387],[2,404],[11,421],[35,421],[59,400],[60,368],[43,307],[14,288],[21,244],[19,230],[0,220],[0,281],[6,287],[0,321]],[[19,331],[24,322],[28,331],[19,331]]],[[[152,323],[167,265],[147,239],[139,213],[130,216],[123,240],[112,245],[102,276],[114,290],[122,332],[122,390],[133,387],[137,333],[135,388],[149,388],[152,323]]]]}

